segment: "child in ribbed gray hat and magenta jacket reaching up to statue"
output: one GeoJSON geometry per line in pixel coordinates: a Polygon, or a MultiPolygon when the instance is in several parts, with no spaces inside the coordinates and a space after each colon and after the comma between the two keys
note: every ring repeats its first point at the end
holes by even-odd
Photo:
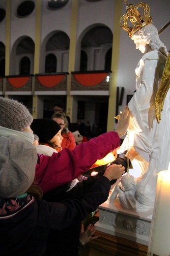
{"type": "MultiPolygon", "coordinates": [[[[29,131],[32,115],[17,100],[0,97],[0,126],[29,131]]],[[[127,130],[130,112],[126,106],[120,115],[115,131],[109,131],[87,142],[77,145],[74,150],[63,149],[51,157],[38,155],[35,183],[44,193],[64,185],[87,171],[98,159],[104,158],[120,144],[120,137],[127,130]]]]}

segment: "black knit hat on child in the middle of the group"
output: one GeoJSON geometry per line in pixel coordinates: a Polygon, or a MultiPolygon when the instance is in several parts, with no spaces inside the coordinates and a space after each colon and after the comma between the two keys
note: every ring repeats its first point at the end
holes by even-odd
{"type": "Polygon", "coordinates": [[[61,129],[57,122],[48,118],[34,119],[30,128],[38,135],[40,143],[48,143],[61,129]]]}

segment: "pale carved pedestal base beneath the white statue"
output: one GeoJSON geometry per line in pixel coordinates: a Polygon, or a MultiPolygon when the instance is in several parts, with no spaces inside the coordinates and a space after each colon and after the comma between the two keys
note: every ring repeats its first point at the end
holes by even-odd
{"type": "Polygon", "coordinates": [[[153,210],[136,212],[107,201],[98,208],[96,230],[148,246],[153,210]]]}

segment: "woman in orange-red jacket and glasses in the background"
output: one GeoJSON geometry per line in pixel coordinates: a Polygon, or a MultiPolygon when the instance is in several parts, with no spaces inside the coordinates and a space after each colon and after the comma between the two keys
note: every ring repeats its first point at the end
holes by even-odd
{"type": "Polygon", "coordinates": [[[61,147],[73,150],[76,146],[76,141],[73,133],[68,129],[68,122],[64,112],[59,111],[53,114],[52,120],[57,122],[61,128],[61,135],[63,137],[61,147]]]}

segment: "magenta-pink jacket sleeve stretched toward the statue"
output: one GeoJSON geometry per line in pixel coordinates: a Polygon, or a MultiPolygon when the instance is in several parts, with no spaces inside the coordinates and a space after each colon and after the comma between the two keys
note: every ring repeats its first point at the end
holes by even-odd
{"type": "Polygon", "coordinates": [[[119,143],[117,132],[109,131],[77,145],[74,150],[63,149],[51,157],[40,155],[35,182],[44,193],[51,191],[87,171],[96,160],[116,149],[119,143]]]}

